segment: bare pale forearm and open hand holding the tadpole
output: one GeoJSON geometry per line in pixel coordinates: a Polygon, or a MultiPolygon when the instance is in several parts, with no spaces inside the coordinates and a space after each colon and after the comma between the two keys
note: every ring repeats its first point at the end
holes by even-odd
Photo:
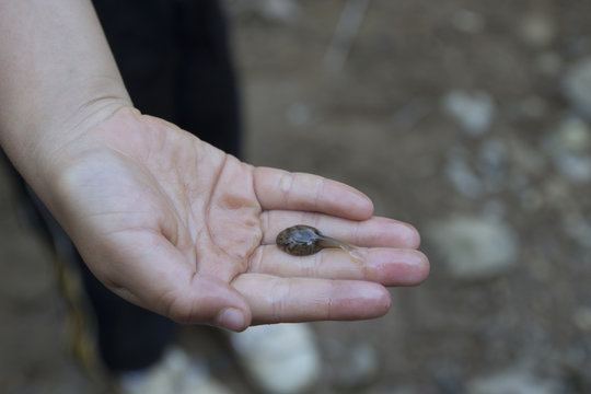
{"type": "Polygon", "coordinates": [[[0,0],[0,54],[2,148],[124,299],[242,331],[381,316],[386,287],[427,277],[417,231],[372,217],[360,192],[248,165],[136,111],[89,2],[0,0]],[[277,248],[300,223],[360,246],[362,264],[277,248]]]}

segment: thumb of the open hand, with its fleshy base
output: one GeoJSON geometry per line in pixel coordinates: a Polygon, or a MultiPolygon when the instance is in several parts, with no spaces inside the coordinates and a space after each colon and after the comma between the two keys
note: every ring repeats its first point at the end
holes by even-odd
{"type": "Polygon", "coordinates": [[[109,247],[80,251],[89,268],[112,291],[178,323],[235,332],[250,326],[248,303],[228,282],[198,274],[195,264],[164,237],[129,235],[119,234],[109,247]]]}

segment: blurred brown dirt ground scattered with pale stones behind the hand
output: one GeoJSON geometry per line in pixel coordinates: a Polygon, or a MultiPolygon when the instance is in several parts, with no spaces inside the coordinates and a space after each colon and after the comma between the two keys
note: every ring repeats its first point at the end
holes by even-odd
{"type": "MultiPolygon", "coordinates": [[[[431,262],[385,317],[312,325],[311,393],[590,393],[591,3],[227,9],[247,161],[359,188],[419,230],[431,262]]],[[[0,387],[92,393],[51,254],[0,176],[0,387]]],[[[183,327],[179,343],[256,392],[221,334],[183,327]]]]}

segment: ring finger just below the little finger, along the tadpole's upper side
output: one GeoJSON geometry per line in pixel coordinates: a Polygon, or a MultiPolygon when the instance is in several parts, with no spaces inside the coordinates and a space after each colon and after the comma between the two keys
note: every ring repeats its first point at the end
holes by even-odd
{"type": "Polygon", "coordinates": [[[283,229],[294,224],[308,224],[323,234],[357,246],[417,248],[420,235],[410,224],[386,218],[352,221],[310,212],[269,211],[260,216],[263,244],[275,244],[283,229]]]}

